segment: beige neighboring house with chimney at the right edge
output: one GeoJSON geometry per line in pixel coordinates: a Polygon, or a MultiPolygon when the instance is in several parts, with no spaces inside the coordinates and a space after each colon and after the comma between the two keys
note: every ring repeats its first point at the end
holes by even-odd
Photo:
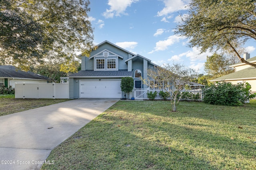
{"type": "MultiPolygon", "coordinates": [[[[250,63],[256,64],[256,57],[250,58],[250,54],[244,54],[244,59],[246,61],[249,61],[250,63]]],[[[252,88],[252,92],[256,92],[256,67],[250,66],[248,64],[244,64],[242,62],[236,63],[231,65],[235,72],[232,72],[230,74],[227,74],[225,76],[221,76],[218,78],[214,78],[213,80],[210,80],[211,82],[231,82],[232,84],[237,83],[245,83],[248,82],[252,88]]]]}

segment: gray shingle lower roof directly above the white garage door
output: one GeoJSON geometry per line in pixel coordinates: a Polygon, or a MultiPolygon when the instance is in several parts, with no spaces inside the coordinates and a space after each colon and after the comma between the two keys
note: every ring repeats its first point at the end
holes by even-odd
{"type": "Polygon", "coordinates": [[[71,74],[69,78],[73,77],[84,77],[84,78],[93,78],[93,77],[131,77],[132,71],[128,70],[116,70],[116,71],[94,71],[94,70],[81,70],[77,73],[71,74]]]}

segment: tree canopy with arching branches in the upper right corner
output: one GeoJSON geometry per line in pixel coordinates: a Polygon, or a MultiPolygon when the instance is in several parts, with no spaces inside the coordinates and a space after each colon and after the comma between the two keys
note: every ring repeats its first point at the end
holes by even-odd
{"type": "Polygon", "coordinates": [[[176,34],[186,36],[190,47],[201,52],[233,51],[243,63],[238,48],[256,40],[255,0],[191,0],[188,16],[177,26],[176,34]]]}

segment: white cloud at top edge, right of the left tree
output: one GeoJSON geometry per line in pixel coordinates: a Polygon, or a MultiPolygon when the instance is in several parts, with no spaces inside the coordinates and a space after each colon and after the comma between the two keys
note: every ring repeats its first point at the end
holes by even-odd
{"type": "Polygon", "coordinates": [[[102,14],[105,18],[113,18],[114,16],[120,16],[120,14],[127,15],[125,10],[132,3],[138,2],[139,0],[108,0],[110,9],[102,14]]]}

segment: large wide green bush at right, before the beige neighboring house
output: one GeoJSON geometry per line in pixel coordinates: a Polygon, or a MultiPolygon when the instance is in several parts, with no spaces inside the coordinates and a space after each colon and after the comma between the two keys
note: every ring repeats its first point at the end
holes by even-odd
{"type": "Polygon", "coordinates": [[[204,89],[204,102],[224,106],[241,106],[255,94],[250,94],[250,84],[217,82],[204,89]]]}

